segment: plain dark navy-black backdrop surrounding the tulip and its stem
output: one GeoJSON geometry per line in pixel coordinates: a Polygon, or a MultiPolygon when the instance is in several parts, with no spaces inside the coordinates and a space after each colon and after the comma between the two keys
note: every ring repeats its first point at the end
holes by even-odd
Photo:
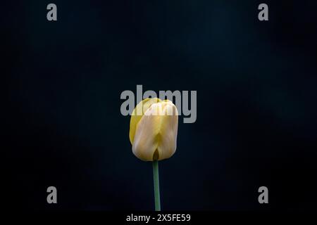
{"type": "Polygon", "coordinates": [[[163,210],[316,210],[317,1],[263,2],[1,3],[1,204],[153,210],[151,163],[120,114],[142,84],[197,90],[197,122],[180,118],[160,163],[163,210]]]}

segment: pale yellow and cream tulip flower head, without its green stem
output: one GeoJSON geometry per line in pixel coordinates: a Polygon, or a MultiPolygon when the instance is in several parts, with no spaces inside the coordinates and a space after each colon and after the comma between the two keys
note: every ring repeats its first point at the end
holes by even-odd
{"type": "Polygon", "coordinates": [[[169,100],[147,98],[133,110],[130,120],[132,152],[144,161],[170,158],[176,150],[178,110],[169,100]]]}

